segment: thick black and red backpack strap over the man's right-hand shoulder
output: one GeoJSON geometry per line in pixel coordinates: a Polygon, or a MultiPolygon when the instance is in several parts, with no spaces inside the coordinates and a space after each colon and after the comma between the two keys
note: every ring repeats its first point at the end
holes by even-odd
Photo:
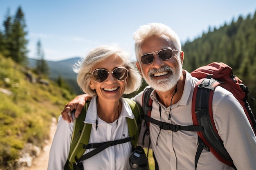
{"type": "MultiPolygon", "coordinates": [[[[204,144],[204,148],[208,147],[208,151],[211,151],[221,162],[229,166],[234,166],[231,157],[223,145],[223,141],[218,135],[218,131],[213,120],[213,92],[220,82],[210,77],[211,76],[208,76],[205,79],[200,79],[195,86],[191,112],[193,124],[195,126],[204,127],[204,131],[197,131],[199,138],[204,144]]],[[[198,161],[201,152],[197,152],[195,160],[198,161]]],[[[197,161],[195,161],[195,167],[197,161]]]]}

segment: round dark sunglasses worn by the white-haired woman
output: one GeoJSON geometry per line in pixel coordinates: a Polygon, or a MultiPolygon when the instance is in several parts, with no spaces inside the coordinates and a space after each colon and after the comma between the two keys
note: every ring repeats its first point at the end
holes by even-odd
{"type": "Polygon", "coordinates": [[[113,77],[118,81],[124,81],[128,77],[129,70],[124,67],[117,67],[113,71],[107,71],[102,68],[98,68],[92,73],[88,73],[92,75],[92,78],[95,82],[101,83],[104,82],[108,78],[108,73],[112,73],[113,77]]]}

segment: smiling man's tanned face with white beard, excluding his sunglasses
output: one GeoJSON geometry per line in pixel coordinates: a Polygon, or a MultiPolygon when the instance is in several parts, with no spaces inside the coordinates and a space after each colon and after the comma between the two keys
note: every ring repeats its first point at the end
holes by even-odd
{"type": "MultiPolygon", "coordinates": [[[[147,38],[141,44],[141,55],[153,53],[162,49],[172,49],[171,43],[166,39],[154,36],[147,38]]],[[[182,74],[183,52],[177,56],[177,51],[173,52],[173,57],[169,60],[161,60],[154,54],[154,61],[150,64],[142,64],[139,60],[136,65],[141,76],[151,87],[157,91],[168,91],[173,88],[182,74]]]]}

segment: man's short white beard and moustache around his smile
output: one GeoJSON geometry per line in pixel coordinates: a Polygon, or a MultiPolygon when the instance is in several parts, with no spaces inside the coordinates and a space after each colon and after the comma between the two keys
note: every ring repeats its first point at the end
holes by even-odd
{"type": "Polygon", "coordinates": [[[156,91],[169,91],[174,86],[176,86],[177,82],[180,79],[180,76],[182,75],[182,64],[180,61],[178,61],[177,69],[173,69],[170,66],[164,65],[163,67],[156,69],[152,68],[148,71],[148,75],[144,75],[142,72],[142,75],[147,82],[148,85],[150,85],[152,88],[154,88],[156,91]],[[159,73],[163,71],[169,71],[172,74],[166,78],[155,80],[151,77],[154,73],[159,73]]]}

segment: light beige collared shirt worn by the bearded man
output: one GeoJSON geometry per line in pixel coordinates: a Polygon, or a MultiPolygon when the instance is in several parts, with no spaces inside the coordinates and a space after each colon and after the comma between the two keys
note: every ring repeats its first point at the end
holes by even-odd
{"type": "MultiPolygon", "coordinates": [[[[162,122],[182,126],[193,125],[191,102],[198,79],[184,70],[183,74],[186,75],[184,91],[180,101],[171,107],[171,120],[168,120],[170,106],[166,108],[160,104],[162,122]]],[[[143,92],[135,96],[135,101],[141,106],[142,95],[143,92]]],[[[151,117],[160,121],[155,90],[150,97],[153,99],[151,117]]],[[[224,146],[238,170],[255,170],[256,137],[243,112],[242,106],[229,91],[221,87],[216,88],[213,95],[213,119],[218,133],[224,141],[224,146]]],[[[163,129],[160,131],[158,126],[150,124],[150,139],[159,170],[195,169],[194,161],[198,148],[196,132],[184,130],[173,132],[163,129]]],[[[198,160],[197,170],[234,170],[234,168],[220,162],[212,152],[203,150],[198,160]]]]}

